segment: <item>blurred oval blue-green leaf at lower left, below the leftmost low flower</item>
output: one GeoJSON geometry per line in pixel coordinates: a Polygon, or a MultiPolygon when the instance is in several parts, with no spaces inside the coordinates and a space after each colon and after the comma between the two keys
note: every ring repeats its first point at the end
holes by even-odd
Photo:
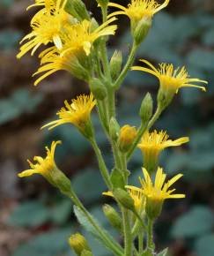
{"type": "Polygon", "coordinates": [[[48,221],[49,211],[39,201],[26,201],[11,214],[9,223],[21,227],[37,227],[48,221]]]}

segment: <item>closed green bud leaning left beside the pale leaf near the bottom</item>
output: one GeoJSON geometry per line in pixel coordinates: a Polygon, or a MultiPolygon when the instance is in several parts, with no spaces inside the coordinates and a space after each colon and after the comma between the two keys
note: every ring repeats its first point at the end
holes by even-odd
{"type": "Polygon", "coordinates": [[[121,231],[122,230],[122,218],[118,212],[109,205],[104,205],[102,207],[104,215],[106,215],[108,222],[114,227],[114,229],[121,231]]]}

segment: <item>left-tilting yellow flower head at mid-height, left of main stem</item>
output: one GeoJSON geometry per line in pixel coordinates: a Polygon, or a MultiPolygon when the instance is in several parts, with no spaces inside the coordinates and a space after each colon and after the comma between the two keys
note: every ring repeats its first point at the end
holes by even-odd
{"type": "Polygon", "coordinates": [[[52,121],[41,127],[49,127],[48,129],[53,129],[61,124],[74,124],[81,131],[85,130],[85,125],[90,119],[90,114],[93,107],[96,105],[96,101],[93,95],[80,95],[77,99],[71,101],[71,103],[65,101],[65,107],[62,108],[56,115],[59,117],[58,120],[52,121]]]}

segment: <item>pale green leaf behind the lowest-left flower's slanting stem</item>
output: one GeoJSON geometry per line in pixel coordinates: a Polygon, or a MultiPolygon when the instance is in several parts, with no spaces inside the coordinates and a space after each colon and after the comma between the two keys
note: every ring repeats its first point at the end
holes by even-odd
{"type": "MultiPolygon", "coordinates": [[[[74,206],[74,213],[77,216],[77,220],[78,222],[85,228],[85,230],[87,230],[88,232],[92,233],[92,235],[94,237],[96,237],[100,243],[102,245],[105,245],[107,248],[109,248],[108,243],[106,241],[106,239],[103,239],[102,237],[100,237],[100,232],[92,225],[91,222],[88,221],[88,219],[85,217],[83,211],[77,207],[74,206]]],[[[89,214],[90,215],[90,214],[89,214]]],[[[92,218],[92,221],[96,223],[96,225],[98,227],[100,227],[100,223],[92,216],[90,215],[92,218]]],[[[102,232],[109,238],[111,238],[114,241],[114,238],[111,237],[108,233],[107,230],[103,229],[103,227],[100,227],[100,229],[102,230],[102,232]]],[[[110,248],[109,248],[110,249],[110,248]]]]}

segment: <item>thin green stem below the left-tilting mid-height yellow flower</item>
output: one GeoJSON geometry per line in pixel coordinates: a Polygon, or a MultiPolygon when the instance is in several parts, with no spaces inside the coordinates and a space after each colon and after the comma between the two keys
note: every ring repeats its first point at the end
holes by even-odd
{"type": "Polygon", "coordinates": [[[95,139],[90,139],[90,142],[92,143],[92,147],[94,149],[94,152],[98,158],[98,163],[99,163],[99,168],[100,168],[100,172],[101,175],[105,181],[105,183],[107,184],[108,189],[112,189],[112,184],[110,181],[110,176],[107,170],[107,166],[106,163],[104,162],[104,159],[102,157],[102,154],[100,152],[100,148],[98,147],[97,142],[95,141],[95,139]]]}

